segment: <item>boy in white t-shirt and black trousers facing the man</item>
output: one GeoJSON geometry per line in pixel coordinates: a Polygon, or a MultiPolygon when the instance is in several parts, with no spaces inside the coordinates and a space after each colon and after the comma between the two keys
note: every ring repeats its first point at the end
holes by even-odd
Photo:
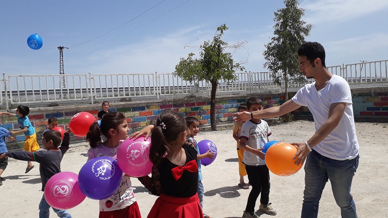
{"type": "MultiPolygon", "coordinates": [[[[256,97],[252,97],[246,101],[246,107],[251,112],[258,111],[263,109],[263,102],[256,97]]],[[[269,215],[276,215],[276,211],[269,203],[270,173],[265,164],[264,153],[261,152],[270,135],[271,130],[267,122],[260,119],[251,119],[241,127],[240,148],[244,150],[242,163],[245,164],[245,170],[252,186],[242,215],[243,218],[258,217],[255,214],[255,204],[260,192],[259,210],[269,215]]]]}

